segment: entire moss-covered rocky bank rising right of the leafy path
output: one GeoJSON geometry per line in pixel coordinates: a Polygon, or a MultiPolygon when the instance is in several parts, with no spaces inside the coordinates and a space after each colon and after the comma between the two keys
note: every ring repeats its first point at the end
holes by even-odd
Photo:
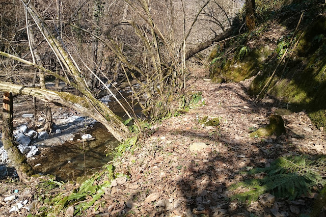
{"type": "Polygon", "coordinates": [[[293,1],[256,30],[216,45],[209,57],[210,78],[215,83],[239,82],[257,75],[249,89],[255,97],[289,48],[267,93],[294,112],[306,110],[318,128],[326,129],[326,14],[317,3],[293,1]],[[300,14],[284,16],[296,9],[306,10],[297,32],[300,14]]]}

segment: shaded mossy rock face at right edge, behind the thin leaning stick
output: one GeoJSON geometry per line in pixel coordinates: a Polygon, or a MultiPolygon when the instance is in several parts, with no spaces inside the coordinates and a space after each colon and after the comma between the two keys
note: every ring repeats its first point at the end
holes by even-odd
{"type": "MultiPolygon", "coordinates": [[[[296,35],[300,39],[287,65],[284,62],[268,93],[289,104],[295,112],[306,110],[318,128],[326,128],[326,17],[319,17],[296,35]]],[[[269,78],[255,77],[249,92],[257,95],[269,78]]]]}

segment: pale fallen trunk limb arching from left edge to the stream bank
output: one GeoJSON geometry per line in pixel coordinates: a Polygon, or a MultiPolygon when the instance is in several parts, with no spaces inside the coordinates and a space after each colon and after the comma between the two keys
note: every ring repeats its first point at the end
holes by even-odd
{"type": "Polygon", "coordinates": [[[102,123],[120,142],[130,136],[129,129],[122,123],[121,119],[98,100],[91,101],[89,98],[79,97],[68,92],[50,91],[37,87],[24,87],[7,82],[0,82],[0,91],[35,96],[45,102],[59,103],[73,108],[83,115],[102,123]]]}

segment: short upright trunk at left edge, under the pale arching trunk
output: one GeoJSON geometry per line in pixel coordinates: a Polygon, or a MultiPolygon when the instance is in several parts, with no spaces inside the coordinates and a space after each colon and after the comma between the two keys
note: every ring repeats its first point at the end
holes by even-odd
{"type": "Polygon", "coordinates": [[[31,166],[28,164],[26,160],[26,156],[24,156],[18,149],[18,144],[15,142],[14,139],[13,124],[12,124],[12,105],[13,105],[12,93],[5,92],[4,102],[3,102],[2,141],[9,159],[14,164],[19,179],[27,180],[28,177],[32,175],[33,171],[31,166]]]}

